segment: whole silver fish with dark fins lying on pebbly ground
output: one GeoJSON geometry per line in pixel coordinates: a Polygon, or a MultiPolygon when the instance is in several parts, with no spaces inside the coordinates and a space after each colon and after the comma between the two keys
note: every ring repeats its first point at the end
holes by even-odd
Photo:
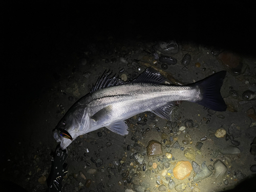
{"type": "Polygon", "coordinates": [[[220,90],[226,71],[185,86],[167,84],[166,78],[147,68],[136,79],[124,82],[105,71],[90,93],[77,100],[53,129],[53,137],[65,150],[78,136],[106,127],[127,135],[126,119],[143,112],[170,120],[175,101],[196,102],[214,111],[226,111],[220,90]]]}

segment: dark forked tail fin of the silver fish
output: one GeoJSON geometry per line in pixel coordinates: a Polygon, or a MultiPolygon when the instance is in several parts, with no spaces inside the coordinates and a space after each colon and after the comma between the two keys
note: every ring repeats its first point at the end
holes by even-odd
{"type": "Polygon", "coordinates": [[[214,111],[226,111],[227,105],[220,93],[225,75],[226,71],[220,71],[193,83],[202,91],[202,99],[196,102],[214,111]]]}

